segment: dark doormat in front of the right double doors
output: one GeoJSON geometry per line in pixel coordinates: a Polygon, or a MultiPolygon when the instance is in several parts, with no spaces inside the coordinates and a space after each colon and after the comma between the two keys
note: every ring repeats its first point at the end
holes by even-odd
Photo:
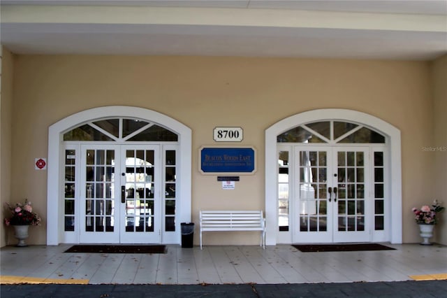
{"type": "Polygon", "coordinates": [[[292,245],[303,253],[318,253],[325,251],[360,251],[360,250],[395,250],[388,246],[377,243],[356,243],[356,244],[305,244],[292,245]]]}

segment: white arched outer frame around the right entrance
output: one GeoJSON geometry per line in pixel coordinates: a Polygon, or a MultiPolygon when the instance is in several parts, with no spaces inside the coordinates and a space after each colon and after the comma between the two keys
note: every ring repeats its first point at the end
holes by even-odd
{"type": "Polygon", "coordinates": [[[276,245],[279,233],[276,171],[278,163],[277,136],[298,125],[325,120],[356,122],[367,127],[372,127],[386,136],[389,157],[388,177],[393,177],[393,180],[390,181],[390,198],[392,200],[390,201],[390,210],[388,213],[390,222],[388,225],[389,234],[387,239],[390,243],[402,243],[402,160],[400,130],[388,122],[367,113],[339,108],[325,108],[292,115],[265,130],[265,169],[272,169],[271,171],[265,171],[266,244],[270,246],[276,245]]]}

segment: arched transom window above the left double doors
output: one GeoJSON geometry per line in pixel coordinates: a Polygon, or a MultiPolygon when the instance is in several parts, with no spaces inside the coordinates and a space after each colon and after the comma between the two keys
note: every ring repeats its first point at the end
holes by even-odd
{"type": "Polygon", "coordinates": [[[137,118],[110,118],[87,122],[64,134],[64,141],[177,142],[175,132],[137,118]]]}

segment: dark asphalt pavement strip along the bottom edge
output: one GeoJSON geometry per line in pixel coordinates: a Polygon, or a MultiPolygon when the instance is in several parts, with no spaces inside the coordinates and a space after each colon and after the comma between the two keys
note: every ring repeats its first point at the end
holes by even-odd
{"type": "Polygon", "coordinates": [[[230,285],[0,285],[1,298],[447,297],[447,281],[230,285]]]}

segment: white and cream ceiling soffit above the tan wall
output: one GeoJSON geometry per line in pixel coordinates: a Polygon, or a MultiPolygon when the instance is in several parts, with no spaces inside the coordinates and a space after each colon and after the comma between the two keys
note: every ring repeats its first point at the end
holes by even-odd
{"type": "Polygon", "coordinates": [[[1,44],[17,54],[430,60],[447,53],[447,1],[0,3],[1,44]]]}

